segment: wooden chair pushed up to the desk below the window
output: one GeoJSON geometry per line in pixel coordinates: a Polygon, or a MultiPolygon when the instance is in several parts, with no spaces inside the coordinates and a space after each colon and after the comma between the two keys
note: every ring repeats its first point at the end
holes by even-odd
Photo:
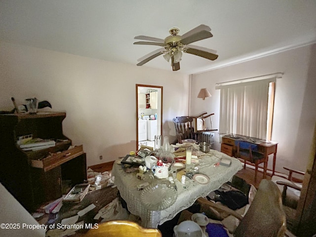
{"type": "Polygon", "coordinates": [[[258,165],[265,162],[265,157],[262,153],[257,152],[258,146],[248,142],[238,142],[237,158],[244,160],[243,168],[246,168],[246,161],[255,165],[255,183],[257,182],[258,165]]]}

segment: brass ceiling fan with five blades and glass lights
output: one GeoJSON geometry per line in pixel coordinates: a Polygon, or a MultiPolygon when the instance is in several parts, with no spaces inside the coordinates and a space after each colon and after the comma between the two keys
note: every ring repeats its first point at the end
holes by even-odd
{"type": "Polygon", "coordinates": [[[198,40],[204,40],[212,37],[213,35],[210,31],[211,28],[208,26],[199,25],[182,36],[178,35],[179,29],[173,27],[169,30],[171,36],[166,37],[164,40],[148,36],[136,36],[134,38],[136,40],[148,41],[137,41],[134,42],[134,44],[157,45],[162,47],[138,59],[139,63],[137,66],[142,66],[150,60],[163,54],[166,61],[169,62],[171,59],[172,70],[178,71],[180,69],[182,52],[194,54],[209,60],[215,60],[218,57],[215,50],[190,44],[198,40]]]}

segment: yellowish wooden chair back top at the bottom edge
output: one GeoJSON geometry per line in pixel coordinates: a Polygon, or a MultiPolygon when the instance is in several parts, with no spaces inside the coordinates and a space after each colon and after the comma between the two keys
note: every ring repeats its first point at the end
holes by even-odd
{"type": "Polygon", "coordinates": [[[143,228],[132,221],[107,221],[90,229],[84,237],[162,237],[158,229],[143,228]]]}

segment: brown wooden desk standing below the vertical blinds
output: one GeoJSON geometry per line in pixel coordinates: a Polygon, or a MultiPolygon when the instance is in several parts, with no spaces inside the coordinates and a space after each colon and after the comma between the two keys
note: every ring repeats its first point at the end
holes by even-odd
{"type": "Polygon", "coordinates": [[[221,152],[229,156],[235,157],[238,142],[249,142],[251,144],[258,145],[258,152],[262,153],[265,157],[264,168],[263,168],[263,178],[266,178],[269,155],[273,154],[272,176],[275,174],[277,142],[264,141],[257,138],[247,137],[247,136],[228,134],[222,137],[221,152]]]}

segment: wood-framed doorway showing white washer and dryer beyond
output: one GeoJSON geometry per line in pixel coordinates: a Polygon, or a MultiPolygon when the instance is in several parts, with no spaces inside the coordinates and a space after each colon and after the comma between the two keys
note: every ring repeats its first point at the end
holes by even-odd
{"type": "Polygon", "coordinates": [[[162,136],[162,86],[136,84],[136,151],[162,136]]]}

